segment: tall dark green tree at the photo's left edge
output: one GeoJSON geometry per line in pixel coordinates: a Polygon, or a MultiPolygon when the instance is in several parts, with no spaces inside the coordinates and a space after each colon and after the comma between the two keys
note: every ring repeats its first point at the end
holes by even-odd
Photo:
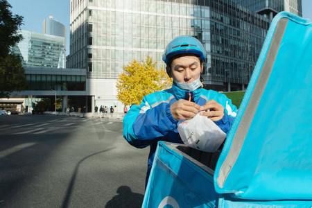
{"type": "Polygon", "coordinates": [[[13,91],[20,91],[26,85],[21,58],[10,53],[22,36],[18,34],[23,17],[12,15],[10,4],[0,0],[0,97],[8,98],[13,91]]]}

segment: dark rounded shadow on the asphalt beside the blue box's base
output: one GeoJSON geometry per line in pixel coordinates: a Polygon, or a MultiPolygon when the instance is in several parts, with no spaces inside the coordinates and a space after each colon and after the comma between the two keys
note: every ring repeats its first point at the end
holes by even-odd
{"type": "Polygon", "coordinates": [[[141,193],[133,193],[130,187],[121,186],[116,191],[118,195],[114,196],[107,204],[105,208],[134,208],[141,207],[144,195],[141,193]]]}

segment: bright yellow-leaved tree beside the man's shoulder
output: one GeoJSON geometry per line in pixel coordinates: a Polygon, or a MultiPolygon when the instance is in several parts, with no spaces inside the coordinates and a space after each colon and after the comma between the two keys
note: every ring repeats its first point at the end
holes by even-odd
{"type": "Polygon", "coordinates": [[[144,96],[168,89],[172,80],[166,71],[157,69],[157,62],[149,56],[145,61],[133,60],[127,66],[123,66],[123,73],[117,80],[117,98],[124,105],[139,105],[144,96]]]}

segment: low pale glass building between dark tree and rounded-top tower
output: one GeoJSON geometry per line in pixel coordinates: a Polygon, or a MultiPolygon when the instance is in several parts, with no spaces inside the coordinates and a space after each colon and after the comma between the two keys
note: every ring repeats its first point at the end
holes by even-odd
{"type": "Polygon", "coordinates": [[[23,35],[13,53],[21,55],[23,67],[65,67],[64,37],[20,31],[23,35]]]}

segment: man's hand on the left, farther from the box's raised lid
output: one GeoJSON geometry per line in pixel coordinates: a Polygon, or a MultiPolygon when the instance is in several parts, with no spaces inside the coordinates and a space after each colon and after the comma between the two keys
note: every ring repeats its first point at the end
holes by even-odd
{"type": "Polygon", "coordinates": [[[179,100],[173,103],[170,107],[173,118],[177,121],[183,119],[192,119],[193,116],[198,114],[200,105],[191,101],[179,100]]]}

